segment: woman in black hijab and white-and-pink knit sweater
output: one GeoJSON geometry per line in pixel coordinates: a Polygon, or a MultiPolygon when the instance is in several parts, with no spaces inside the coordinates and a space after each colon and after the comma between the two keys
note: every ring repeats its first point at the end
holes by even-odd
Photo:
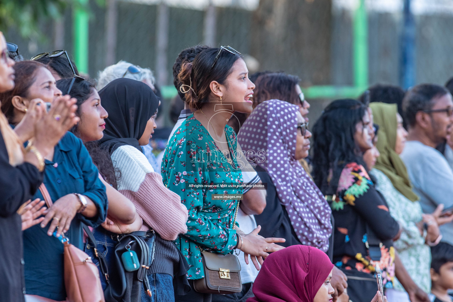
{"type": "MultiPolygon", "coordinates": [[[[145,83],[125,78],[111,81],[99,96],[109,114],[100,146],[108,150],[119,172],[118,191],[134,203],[143,219],[140,230],[152,229],[157,234],[154,262],[148,271],[153,295],[159,301],[174,301],[173,276],[184,280],[186,271],[179,269],[185,260],[172,240],[187,232],[187,208],[179,195],[164,186],[140,147],[149,144],[154,133],[159,100],[145,83]]],[[[142,301],[151,301],[145,293],[142,297],[142,301]]]]}

